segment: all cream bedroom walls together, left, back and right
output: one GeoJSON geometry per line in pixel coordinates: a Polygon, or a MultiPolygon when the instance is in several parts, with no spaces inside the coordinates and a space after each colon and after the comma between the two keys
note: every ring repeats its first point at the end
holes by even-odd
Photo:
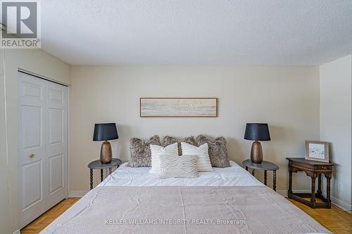
{"type": "MultiPolygon", "coordinates": [[[[5,72],[0,69],[0,128],[6,127],[8,144],[1,130],[0,186],[8,191],[0,194],[0,233],[18,229],[18,68],[72,84],[70,190],[89,189],[87,164],[99,158],[101,145],[92,141],[94,123],[117,122],[120,139],[112,141],[113,157],[123,161],[129,159],[132,136],[208,134],[225,136],[230,158],[241,164],[251,147],[251,141],[243,139],[246,122],[268,122],[272,141],[263,142],[264,158],[279,164],[278,190],[287,190],[285,157],[303,157],[304,141],[321,138],[332,141],[334,180],[344,186],[341,193],[334,182],[332,194],[351,204],[351,56],[322,65],[319,71],[304,66],[70,67],[41,50],[1,53],[5,72]],[[140,118],[142,96],[215,96],[219,117],[140,118]]],[[[271,174],[269,179],[271,186],[271,174]]],[[[303,173],[294,180],[294,188],[310,188],[303,173]]]]}

